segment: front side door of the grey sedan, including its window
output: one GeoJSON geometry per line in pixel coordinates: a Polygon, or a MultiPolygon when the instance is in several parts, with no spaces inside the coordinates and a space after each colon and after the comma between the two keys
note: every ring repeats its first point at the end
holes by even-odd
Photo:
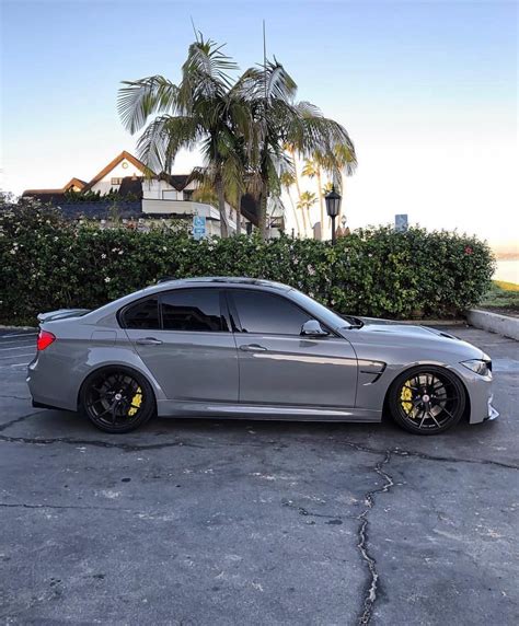
{"type": "Polygon", "coordinates": [[[240,366],[240,402],[353,407],[357,358],[348,340],[301,336],[314,317],[282,294],[229,289],[240,366]]]}

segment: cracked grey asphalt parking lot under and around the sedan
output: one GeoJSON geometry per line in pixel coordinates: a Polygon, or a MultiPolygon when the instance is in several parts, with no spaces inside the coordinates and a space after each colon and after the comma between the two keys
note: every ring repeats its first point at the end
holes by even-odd
{"type": "Polygon", "coordinates": [[[34,332],[0,329],[0,623],[519,623],[519,344],[500,418],[378,426],[155,419],[125,436],[32,408],[34,332]]]}

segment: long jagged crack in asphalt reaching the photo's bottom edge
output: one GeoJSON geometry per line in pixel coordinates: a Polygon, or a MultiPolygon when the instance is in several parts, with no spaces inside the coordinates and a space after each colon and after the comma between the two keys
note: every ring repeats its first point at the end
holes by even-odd
{"type": "Polygon", "coordinates": [[[362,612],[359,615],[358,624],[366,625],[369,624],[371,619],[371,615],[373,613],[373,605],[377,600],[377,589],[379,587],[379,579],[380,575],[377,571],[377,561],[374,557],[369,552],[368,546],[368,528],[369,528],[369,520],[368,514],[371,509],[374,507],[376,503],[376,494],[385,494],[388,492],[391,487],[394,485],[393,478],[390,474],[383,471],[383,466],[388,465],[391,461],[391,450],[387,450],[384,457],[382,461],[378,461],[374,464],[373,471],[384,479],[384,484],[381,487],[377,487],[376,489],[370,489],[365,496],[366,509],[358,515],[358,520],[360,522],[357,535],[358,535],[358,544],[357,547],[360,552],[360,556],[362,560],[368,566],[369,571],[369,580],[366,583],[365,588],[365,596],[362,603],[362,612]]]}

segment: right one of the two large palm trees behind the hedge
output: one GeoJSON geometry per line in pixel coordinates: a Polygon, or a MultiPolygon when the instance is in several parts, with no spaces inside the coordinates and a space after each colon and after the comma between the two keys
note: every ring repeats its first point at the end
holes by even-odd
{"type": "Polygon", "coordinates": [[[355,148],[343,126],[325,118],[314,105],[295,101],[297,84],[276,59],[246,70],[237,89],[254,119],[251,155],[261,188],[260,229],[265,237],[267,197],[279,194],[281,172],[289,166],[293,170],[296,158],[319,153],[335,173],[339,171],[336,149],[347,148],[355,155],[355,148]]]}

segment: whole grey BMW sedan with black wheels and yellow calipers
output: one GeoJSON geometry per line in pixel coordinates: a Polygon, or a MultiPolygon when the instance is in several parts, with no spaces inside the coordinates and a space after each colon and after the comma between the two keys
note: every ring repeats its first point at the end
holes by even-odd
{"type": "Polygon", "coordinates": [[[380,421],[418,434],[497,417],[492,362],[424,326],[342,316],[250,278],[165,280],[93,311],[38,316],[36,407],[107,432],[161,417],[380,421]]]}

